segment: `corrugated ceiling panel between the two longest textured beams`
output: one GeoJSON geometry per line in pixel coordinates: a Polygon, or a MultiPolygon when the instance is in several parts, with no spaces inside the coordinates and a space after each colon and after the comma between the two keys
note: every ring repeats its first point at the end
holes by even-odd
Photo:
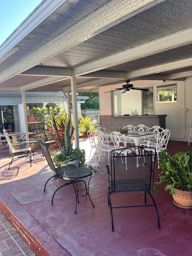
{"type": "Polygon", "coordinates": [[[75,68],[187,29],[192,26],[189,8],[188,1],[162,2],[48,59],[43,65],[75,68]],[[178,13],[178,9],[184,12],[178,13]]]}

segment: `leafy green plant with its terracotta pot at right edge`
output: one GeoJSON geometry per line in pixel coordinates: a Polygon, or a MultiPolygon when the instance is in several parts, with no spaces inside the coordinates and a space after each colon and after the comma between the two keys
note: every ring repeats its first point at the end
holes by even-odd
{"type": "Polygon", "coordinates": [[[192,154],[189,151],[178,152],[171,156],[165,149],[159,153],[159,184],[173,195],[173,203],[184,209],[192,208],[192,154]],[[167,184],[168,183],[168,184],[167,184]]]}

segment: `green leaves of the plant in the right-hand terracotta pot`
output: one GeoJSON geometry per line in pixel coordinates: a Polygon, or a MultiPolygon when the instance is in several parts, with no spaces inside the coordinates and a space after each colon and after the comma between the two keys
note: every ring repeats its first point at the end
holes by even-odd
{"type": "Polygon", "coordinates": [[[163,171],[159,175],[159,182],[154,183],[155,188],[161,184],[161,187],[170,190],[170,194],[173,195],[176,194],[175,188],[182,191],[192,191],[191,160],[192,154],[189,151],[178,152],[173,156],[167,149],[160,152],[159,166],[163,171]]]}

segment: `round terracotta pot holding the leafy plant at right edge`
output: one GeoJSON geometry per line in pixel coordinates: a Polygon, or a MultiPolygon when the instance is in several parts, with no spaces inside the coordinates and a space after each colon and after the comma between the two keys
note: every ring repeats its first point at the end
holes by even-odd
{"type": "Polygon", "coordinates": [[[173,203],[180,208],[191,209],[192,208],[192,191],[182,191],[175,188],[177,192],[176,195],[173,195],[173,203]]]}

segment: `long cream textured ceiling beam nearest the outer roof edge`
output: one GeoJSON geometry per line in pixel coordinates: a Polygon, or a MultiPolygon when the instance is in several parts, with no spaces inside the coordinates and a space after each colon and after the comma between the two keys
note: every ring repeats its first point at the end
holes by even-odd
{"type": "MultiPolygon", "coordinates": [[[[57,53],[62,52],[62,49],[67,50],[79,42],[85,41],[87,38],[94,36],[105,29],[120,23],[122,20],[125,20],[126,18],[162,1],[164,0],[145,0],[142,2],[135,0],[132,1],[131,4],[126,0],[110,1],[107,7],[101,7],[99,10],[93,12],[81,22],[76,23],[52,41],[49,41],[47,44],[38,48],[35,52],[30,53],[22,59],[22,62],[17,62],[11,68],[7,68],[2,71],[0,81],[6,80],[8,77],[32,68],[32,66],[38,65],[39,62],[45,61],[46,59],[57,55],[57,53]],[[122,6],[124,8],[122,8],[122,6]]],[[[87,2],[85,0],[79,0],[79,3],[81,2],[85,8],[87,2]]],[[[104,0],[102,2],[105,4],[104,0]]]]}

